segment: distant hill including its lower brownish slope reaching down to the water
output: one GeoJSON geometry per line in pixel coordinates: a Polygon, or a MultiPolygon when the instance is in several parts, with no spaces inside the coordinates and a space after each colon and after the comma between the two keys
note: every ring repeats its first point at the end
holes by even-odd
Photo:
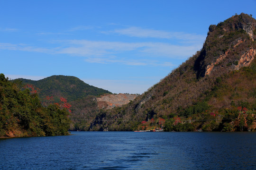
{"type": "Polygon", "coordinates": [[[53,97],[55,101],[60,101],[60,97],[67,99],[72,105],[70,130],[88,130],[90,119],[94,119],[98,111],[96,96],[112,94],[107,90],[88,85],[75,76],[50,76],[38,81],[23,78],[18,80],[23,85],[33,85],[37,88],[42,101],[46,101],[47,96],[53,97]]]}

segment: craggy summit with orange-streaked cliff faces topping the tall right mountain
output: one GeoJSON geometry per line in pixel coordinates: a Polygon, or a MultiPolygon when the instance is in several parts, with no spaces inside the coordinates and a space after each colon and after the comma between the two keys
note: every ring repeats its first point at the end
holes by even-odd
{"type": "Polygon", "coordinates": [[[256,55],[255,40],[256,20],[246,14],[211,25],[200,61],[201,76],[218,76],[249,66],[256,55]]]}

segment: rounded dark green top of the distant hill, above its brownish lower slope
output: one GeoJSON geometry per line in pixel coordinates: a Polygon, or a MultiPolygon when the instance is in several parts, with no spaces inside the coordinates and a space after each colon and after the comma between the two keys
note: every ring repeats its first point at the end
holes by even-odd
{"type": "Polygon", "coordinates": [[[21,80],[24,84],[35,85],[39,88],[41,98],[46,96],[64,97],[69,102],[72,102],[88,95],[111,94],[108,90],[88,85],[75,76],[49,76],[37,81],[24,78],[19,78],[18,80],[21,80]]]}

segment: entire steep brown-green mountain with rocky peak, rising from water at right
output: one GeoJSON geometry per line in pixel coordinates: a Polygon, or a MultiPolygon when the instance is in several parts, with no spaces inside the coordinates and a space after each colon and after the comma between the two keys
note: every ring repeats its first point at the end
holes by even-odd
{"type": "Polygon", "coordinates": [[[134,101],[101,110],[90,130],[139,130],[164,123],[166,131],[255,130],[255,57],[253,17],[241,13],[211,25],[201,51],[134,101]]]}

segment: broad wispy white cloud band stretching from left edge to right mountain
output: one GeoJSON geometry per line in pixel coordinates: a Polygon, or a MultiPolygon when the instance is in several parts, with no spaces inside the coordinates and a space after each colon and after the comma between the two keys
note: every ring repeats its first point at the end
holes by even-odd
{"type": "Polygon", "coordinates": [[[27,44],[0,43],[0,49],[81,56],[85,57],[86,62],[91,63],[173,67],[172,63],[159,59],[186,59],[200,48],[200,46],[178,46],[162,42],[65,40],[52,43],[57,44],[57,47],[39,48],[27,44]],[[128,53],[126,57],[123,56],[124,53],[128,53]]]}

